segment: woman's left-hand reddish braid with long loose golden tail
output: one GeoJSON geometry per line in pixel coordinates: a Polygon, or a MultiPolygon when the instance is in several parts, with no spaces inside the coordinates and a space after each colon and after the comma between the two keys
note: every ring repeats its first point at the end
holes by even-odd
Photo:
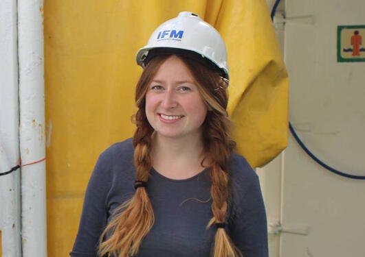
{"type": "MultiPolygon", "coordinates": [[[[134,162],[136,169],[136,180],[146,182],[151,169],[151,134],[152,127],[145,119],[143,109],[135,115],[137,130],[133,136],[134,162]]],[[[133,256],[137,254],[142,239],[151,230],[155,217],[151,201],[144,187],[136,188],[135,195],[122,204],[116,210],[113,220],[107,225],[100,236],[98,254],[103,256],[107,253],[119,257],[133,256]],[[109,232],[111,236],[102,241],[109,232]]]]}

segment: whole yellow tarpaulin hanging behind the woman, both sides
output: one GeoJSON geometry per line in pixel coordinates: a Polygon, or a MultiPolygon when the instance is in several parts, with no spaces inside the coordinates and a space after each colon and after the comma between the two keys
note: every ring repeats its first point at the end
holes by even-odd
{"type": "Polygon", "coordinates": [[[258,167],[287,145],[287,73],[264,0],[45,1],[49,256],[71,251],[98,154],[133,134],[137,49],[184,10],[226,42],[239,153],[258,167]]]}

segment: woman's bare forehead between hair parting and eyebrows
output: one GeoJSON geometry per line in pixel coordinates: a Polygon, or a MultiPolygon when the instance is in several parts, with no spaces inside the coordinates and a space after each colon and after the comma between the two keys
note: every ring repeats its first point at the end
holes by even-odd
{"type": "Polygon", "coordinates": [[[153,79],[175,79],[175,80],[188,80],[191,82],[195,81],[190,69],[181,58],[178,56],[169,56],[159,66],[157,73],[153,79]]]}

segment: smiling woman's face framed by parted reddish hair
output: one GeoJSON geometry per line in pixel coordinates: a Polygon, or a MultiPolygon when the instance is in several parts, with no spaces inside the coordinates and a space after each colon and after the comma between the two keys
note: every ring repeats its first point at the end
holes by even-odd
{"type": "Polygon", "coordinates": [[[207,111],[186,64],[177,56],[167,58],[146,93],[146,116],[157,136],[199,138],[207,111]]]}

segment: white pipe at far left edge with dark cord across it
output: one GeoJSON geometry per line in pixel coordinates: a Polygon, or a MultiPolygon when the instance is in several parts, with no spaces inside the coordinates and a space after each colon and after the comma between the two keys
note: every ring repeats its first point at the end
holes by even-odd
{"type": "MultiPolygon", "coordinates": [[[[16,1],[0,1],[0,172],[19,159],[18,49],[16,1]]],[[[0,176],[3,256],[21,256],[20,171],[0,176]]]]}

